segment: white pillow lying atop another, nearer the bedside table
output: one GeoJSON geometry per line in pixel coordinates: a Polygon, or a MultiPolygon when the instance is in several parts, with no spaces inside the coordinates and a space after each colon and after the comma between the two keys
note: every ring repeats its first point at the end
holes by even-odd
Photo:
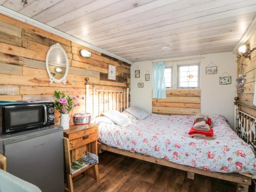
{"type": "Polygon", "coordinates": [[[126,117],[124,114],[121,114],[119,111],[107,111],[103,113],[104,116],[108,117],[114,123],[119,126],[128,126],[132,124],[132,121],[126,117]]]}

